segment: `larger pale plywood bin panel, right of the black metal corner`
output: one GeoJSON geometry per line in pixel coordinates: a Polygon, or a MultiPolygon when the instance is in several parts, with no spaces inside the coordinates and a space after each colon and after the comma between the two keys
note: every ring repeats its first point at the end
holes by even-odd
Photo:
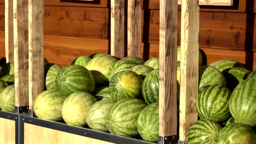
{"type": "Polygon", "coordinates": [[[91,139],[90,137],[75,135],[71,133],[66,133],[63,131],[58,131],[54,129],[39,127],[32,124],[24,124],[24,143],[26,144],[63,144],[63,143],[102,143],[110,144],[110,142],[101,141],[97,139],[91,139]],[[50,137],[50,138],[49,138],[50,137]]]}

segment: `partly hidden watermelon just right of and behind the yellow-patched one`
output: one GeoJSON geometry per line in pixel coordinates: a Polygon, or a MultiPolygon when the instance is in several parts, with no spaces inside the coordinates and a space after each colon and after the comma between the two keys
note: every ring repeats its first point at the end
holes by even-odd
{"type": "Polygon", "coordinates": [[[141,77],[141,79],[144,80],[145,77],[150,73],[150,71],[154,69],[148,67],[147,65],[135,65],[130,70],[138,74],[141,77]]]}

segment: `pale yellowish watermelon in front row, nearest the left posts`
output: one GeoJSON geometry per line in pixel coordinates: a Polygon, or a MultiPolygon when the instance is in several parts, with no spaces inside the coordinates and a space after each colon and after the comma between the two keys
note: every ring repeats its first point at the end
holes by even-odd
{"type": "Polygon", "coordinates": [[[57,89],[46,90],[34,100],[34,113],[40,119],[60,121],[62,119],[61,107],[65,99],[66,95],[57,89]]]}

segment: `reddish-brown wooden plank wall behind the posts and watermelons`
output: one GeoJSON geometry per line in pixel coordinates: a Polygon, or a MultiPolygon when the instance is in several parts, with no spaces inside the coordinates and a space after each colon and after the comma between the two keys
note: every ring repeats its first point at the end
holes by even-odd
{"type": "MultiPolygon", "coordinates": [[[[52,63],[67,65],[78,56],[110,52],[110,1],[63,1],[44,1],[45,57],[52,63]]],[[[234,0],[234,6],[226,9],[200,7],[199,43],[208,64],[229,58],[246,63],[248,69],[256,69],[254,5],[253,1],[246,4],[246,0],[234,0]]],[[[159,56],[159,0],[143,1],[141,7],[141,55],[148,59],[159,56]]],[[[181,11],[178,11],[178,43],[180,23],[181,11]]],[[[5,57],[3,0],[0,0],[0,57],[5,57]]]]}

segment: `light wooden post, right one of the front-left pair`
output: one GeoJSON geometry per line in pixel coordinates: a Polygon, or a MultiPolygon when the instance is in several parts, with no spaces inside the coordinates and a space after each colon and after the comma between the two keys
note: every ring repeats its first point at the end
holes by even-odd
{"type": "Polygon", "coordinates": [[[33,101],[44,91],[44,1],[28,0],[28,63],[30,115],[33,101]]]}

